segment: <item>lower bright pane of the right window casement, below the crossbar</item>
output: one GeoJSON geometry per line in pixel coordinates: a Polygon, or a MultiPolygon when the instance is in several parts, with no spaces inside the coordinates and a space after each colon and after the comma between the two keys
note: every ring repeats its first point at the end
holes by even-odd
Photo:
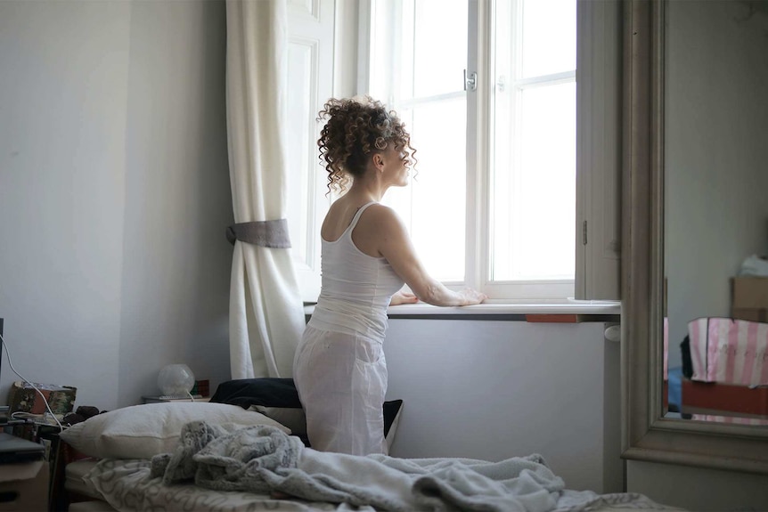
{"type": "Polygon", "coordinates": [[[576,84],[524,89],[517,104],[516,142],[509,118],[495,134],[492,279],[572,280],[576,84]]]}

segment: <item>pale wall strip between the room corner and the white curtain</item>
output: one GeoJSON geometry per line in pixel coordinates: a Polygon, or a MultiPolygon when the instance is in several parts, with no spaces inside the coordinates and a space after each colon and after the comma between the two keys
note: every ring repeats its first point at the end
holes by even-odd
{"type": "MultiPolygon", "coordinates": [[[[233,223],[224,2],[135,2],[128,78],[120,403],[187,362],[230,378],[233,223]],[[148,364],[148,362],[151,362],[148,364]]],[[[215,389],[215,387],[213,388],[215,389]]]]}

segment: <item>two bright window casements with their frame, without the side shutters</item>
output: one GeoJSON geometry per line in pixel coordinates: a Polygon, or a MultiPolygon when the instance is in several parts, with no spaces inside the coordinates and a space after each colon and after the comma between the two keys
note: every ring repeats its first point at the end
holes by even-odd
{"type": "Polygon", "coordinates": [[[368,90],[419,159],[385,202],[429,272],[492,298],[573,297],[576,0],[372,0],[370,40],[368,90]]]}

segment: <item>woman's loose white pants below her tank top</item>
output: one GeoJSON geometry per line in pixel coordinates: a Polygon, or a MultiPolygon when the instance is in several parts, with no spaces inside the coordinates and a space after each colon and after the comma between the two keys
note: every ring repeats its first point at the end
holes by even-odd
{"type": "Polygon", "coordinates": [[[293,380],[312,448],[387,454],[382,340],[307,327],[293,361],[293,380]]]}

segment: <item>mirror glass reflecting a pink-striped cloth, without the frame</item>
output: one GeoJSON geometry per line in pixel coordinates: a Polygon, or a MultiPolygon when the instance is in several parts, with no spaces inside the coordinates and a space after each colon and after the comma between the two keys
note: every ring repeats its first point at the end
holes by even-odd
{"type": "Polygon", "coordinates": [[[665,20],[665,416],[766,427],[768,0],[665,20]]]}

